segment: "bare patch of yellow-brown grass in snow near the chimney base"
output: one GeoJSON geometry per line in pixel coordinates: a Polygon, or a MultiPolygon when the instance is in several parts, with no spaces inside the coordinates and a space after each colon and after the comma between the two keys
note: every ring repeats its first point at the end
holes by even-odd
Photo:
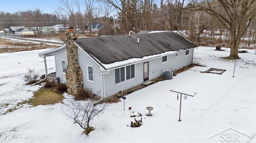
{"type": "Polygon", "coordinates": [[[34,93],[34,96],[30,100],[26,101],[27,104],[32,106],[38,105],[52,105],[56,103],[62,103],[63,95],[52,90],[38,90],[34,93]]]}

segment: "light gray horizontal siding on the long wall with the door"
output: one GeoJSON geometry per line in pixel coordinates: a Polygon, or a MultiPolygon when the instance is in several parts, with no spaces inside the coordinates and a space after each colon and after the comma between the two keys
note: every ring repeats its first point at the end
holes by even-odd
{"type": "MultiPolygon", "coordinates": [[[[175,57],[175,53],[168,55],[168,61],[162,63],[162,57],[149,60],[149,80],[161,76],[164,71],[174,71],[190,65],[193,61],[193,49],[190,49],[189,56],[185,56],[185,51],[179,53],[179,57],[175,57]]],[[[146,62],[146,61],[145,61],[146,62]]],[[[114,70],[104,75],[105,98],[116,94],[122,90],[126,90],[133,86],[143,83],[143,63],[135,64],[135,78],[115,84],[114,70]]]]}

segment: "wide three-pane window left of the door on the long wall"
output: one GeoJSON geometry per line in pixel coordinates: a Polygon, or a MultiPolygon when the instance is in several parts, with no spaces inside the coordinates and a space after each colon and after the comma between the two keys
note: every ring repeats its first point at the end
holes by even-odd
{"type": "Polygon", "coordinates": [[[135,77],[135,66],[128,65],[115,69],[115,83],[120,83],[135,77]]]}

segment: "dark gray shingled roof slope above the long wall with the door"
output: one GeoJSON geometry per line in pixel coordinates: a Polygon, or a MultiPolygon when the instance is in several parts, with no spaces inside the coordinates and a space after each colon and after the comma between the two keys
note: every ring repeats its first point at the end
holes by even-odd
{"type": "MultiPolygon", "coordinates": [[[[198,47],[175,32],[78,38],[74,41],[103,64],[198,47]],[[139,43],[137,43],[137,39],[139,43]]],[[[97,61],[97,60],[96,60],[97,61]]]]}

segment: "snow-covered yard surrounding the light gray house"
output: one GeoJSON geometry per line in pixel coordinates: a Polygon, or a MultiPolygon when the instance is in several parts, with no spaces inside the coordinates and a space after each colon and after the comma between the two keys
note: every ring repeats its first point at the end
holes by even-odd
{"type": "MultiPolygon", "coordinates": [[[[27,68],[44,74],[43,58],[38,57],[38,53],[46,50],[0,54],[2,143],[256,142],[254,50],[239,53],[241,59],[236,60],[232,77],[234,61],[220,58],[227,57],[230,49],[211,51],[210,47],[198,47],[194,61],[206,67],[193,67],[171,80],[157,82],[128,94],[125,110],[123,100],[110,104],[104,114],[92,121],[95,130],[89,136],[82,134],[83,129],[64,115],[61,103],[36,107],[23,105],[13,112],[2,114],[18,102],[31,98],[32,92],[40,87],[26,86],[22,77],[27,68]],[[200,72],[210,68],[226,71],[222,74],[200,72]],[[188,96],[186,100],[182,95],[182,121],[178,121],[180,94],[177,100],[177,93],[170,90],[190,95],[196,93],[196,96],[188,96]],[[147,106],[154,108],[151,111],[153,116],[146,116],[147,106]],[[128,107],[132,107],[132,110],[128,110],[128,107]],[[137,112],[142,114],[142,126],[129,127],[130,122],[134,121],[130,116],[138,115],[137,112]]],[[[54,57],[48,58],[47,62],[49,73],[55,71],[54,57]]],[[[65,97],[64,103],[70,100],[70,96],[65,94],[65,97]]]]}

